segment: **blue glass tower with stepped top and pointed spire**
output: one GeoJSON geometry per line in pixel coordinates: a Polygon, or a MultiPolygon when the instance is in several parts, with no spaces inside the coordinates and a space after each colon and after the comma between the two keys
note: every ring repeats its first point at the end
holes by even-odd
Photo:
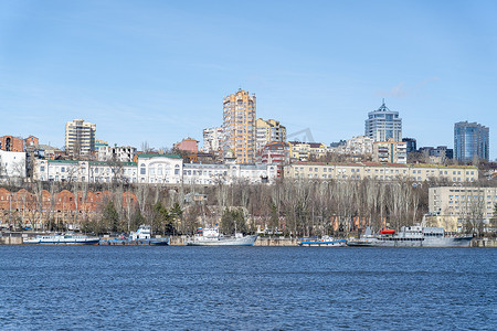
{"type": "Polygon", "coordinates": [[[392,111],[383,104],[374,111],[368,113],[364,136],[373,141],[402,141],[402,118],[399,111],[392,111]]]}

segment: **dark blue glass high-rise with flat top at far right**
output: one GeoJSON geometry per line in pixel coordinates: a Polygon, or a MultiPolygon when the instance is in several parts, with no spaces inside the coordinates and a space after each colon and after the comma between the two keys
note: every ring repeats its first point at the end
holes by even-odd
{"type": "Polygon", "coordinates": [[[490,154],[489,129],[477,122],[459,121],[454,125],[454,158],[472,161],[474,158],[488,161],[490,154]]]}

